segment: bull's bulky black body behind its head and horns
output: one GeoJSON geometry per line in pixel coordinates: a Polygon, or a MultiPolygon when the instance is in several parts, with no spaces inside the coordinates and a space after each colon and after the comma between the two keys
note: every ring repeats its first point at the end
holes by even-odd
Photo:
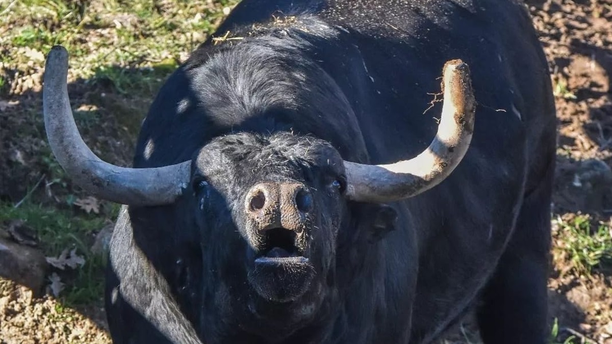
{"type": "MultiPolygon", "coordinates": [[[[210,261],[232,248],[185,223],[180,200],[130,208],[111,250],[121,283],[136,279],[117,293],[109,274],[116,343],[169,343],[151,318],[172,327],[159,317],[173,313],[207,344],[429,343],[478,302],[487,343],[544,343],[554,105],[521,4],[247,0],[214,36],[227,31],[166,81],[143,124],[136,167],[192,159],[212,138],[241,131],[310,133],[353,162],[406,159],[435,135],[439,103],[427,109],[442,65],[455,58],[470,65],[478,102],[471,146],[440,185],[390,204],[398,219],[380,241],[338,234],[334,292],[305,316],[271,305],[277,318],[262,318],[241,299],[219,304],[237,277],[210,261]],[[136,247],[170,291],[137,280],[136,247]],[[170,294],[180,312],[168,308],[170,294]],[[124,301],[130,295],[149,315],[124,301]]],[[[356,221],[367,222],[367,207],[359,209],[356,221]]]]}

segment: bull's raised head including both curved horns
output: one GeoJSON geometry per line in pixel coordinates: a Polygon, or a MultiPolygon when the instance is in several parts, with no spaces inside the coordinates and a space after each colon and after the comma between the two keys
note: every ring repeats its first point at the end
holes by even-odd
{"type": "Polygon", "coordinates": [[[187,204],[204,237],[236,248],[233,254],[244,263],[237,272],[242,284],[263,301],[318,294],[347,202],[400,201],[434,187],[463,158],[474,129],[468,65],[454,60],[444,66],[438,133],[410,160],[364,165],[343,161],[318,138],[237,133],[215,138],[177,165],[122,168],[100,160],[81,139],[67,94],[67,60],[64,48],[51,50],[43,88],[48,140],[67,174],[117,203],[187,204]],[[231,221],[220,220],[223,211],[231,221]]]}

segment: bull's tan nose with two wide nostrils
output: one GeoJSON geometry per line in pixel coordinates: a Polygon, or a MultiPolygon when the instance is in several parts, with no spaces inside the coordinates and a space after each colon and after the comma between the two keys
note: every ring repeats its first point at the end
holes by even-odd
{"type": "Polygon", "coordinates": [[[303,230],[313,209],[312,193],[304,184],[271,182],[254,185],[247,192],[245,212],[258,230],[303,230]]]}

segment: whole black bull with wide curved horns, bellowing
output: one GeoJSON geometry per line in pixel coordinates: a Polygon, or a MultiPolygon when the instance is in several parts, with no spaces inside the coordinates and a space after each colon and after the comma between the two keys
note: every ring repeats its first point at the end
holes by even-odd
{"type": "Polygon", "coordinates": [[[84,146],[47,62],[54,154],[127,204],[115,343],[430,343],[471,308],[487,344],[545,343],[555,111],[523,4],[246,0],[214,37],[135,168],[84,146]]]}

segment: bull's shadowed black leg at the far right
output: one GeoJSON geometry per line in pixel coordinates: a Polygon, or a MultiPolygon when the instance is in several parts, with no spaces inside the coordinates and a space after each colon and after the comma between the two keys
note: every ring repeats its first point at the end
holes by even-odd
{"type": "Polygon", "coordinates": [[[478,311],[486,344],[544,344],[548,327],[548,254],[554,163],[524,199],[515,233],[478,311]]]}

